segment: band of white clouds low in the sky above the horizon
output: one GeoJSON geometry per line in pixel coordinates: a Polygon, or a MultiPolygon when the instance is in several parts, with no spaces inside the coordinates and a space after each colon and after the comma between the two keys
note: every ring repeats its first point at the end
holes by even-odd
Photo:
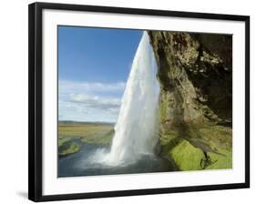
{"type": "Polygon", "coordinates": [[[88,83],[59,81],[61,119],[115,121],[121,104],[124,82],[88,83]]]}

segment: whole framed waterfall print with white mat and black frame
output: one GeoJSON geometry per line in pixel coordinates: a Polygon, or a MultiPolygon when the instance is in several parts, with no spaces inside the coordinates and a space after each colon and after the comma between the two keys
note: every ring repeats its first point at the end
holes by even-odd
{"type": "Polygon", "coordinates": [[[29,5],[29,199],[250,186],[250,17],[29,5]]]}

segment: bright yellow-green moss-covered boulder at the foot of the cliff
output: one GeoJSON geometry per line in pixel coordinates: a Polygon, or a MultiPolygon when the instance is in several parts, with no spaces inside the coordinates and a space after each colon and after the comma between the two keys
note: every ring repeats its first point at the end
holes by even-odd
{"type": "Polygon", "coordinates": [[[199,170],[204,159],[204,154],[200,148],[195,148],[183,139],[179,145],[172,148],[169,156],[174,159],[180,170],[199,170]]]}

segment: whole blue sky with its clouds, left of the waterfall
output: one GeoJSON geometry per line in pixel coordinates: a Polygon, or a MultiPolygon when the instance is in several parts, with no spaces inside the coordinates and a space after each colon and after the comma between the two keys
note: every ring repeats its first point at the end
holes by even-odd
{"type": "Polygon", "coordinates": [[[142,31],[58,26],[59,120],[116,122],[142,31]]]}

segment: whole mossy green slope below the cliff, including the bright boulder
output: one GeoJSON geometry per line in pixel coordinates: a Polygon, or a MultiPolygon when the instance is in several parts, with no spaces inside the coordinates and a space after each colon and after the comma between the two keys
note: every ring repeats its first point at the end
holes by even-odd
{"type": "Polygon", "coordinates": [[[231,128],[214,124],[177,128],[161,135],[161,153],[180,170],[232,168],[231,133],[231,128]]]}

